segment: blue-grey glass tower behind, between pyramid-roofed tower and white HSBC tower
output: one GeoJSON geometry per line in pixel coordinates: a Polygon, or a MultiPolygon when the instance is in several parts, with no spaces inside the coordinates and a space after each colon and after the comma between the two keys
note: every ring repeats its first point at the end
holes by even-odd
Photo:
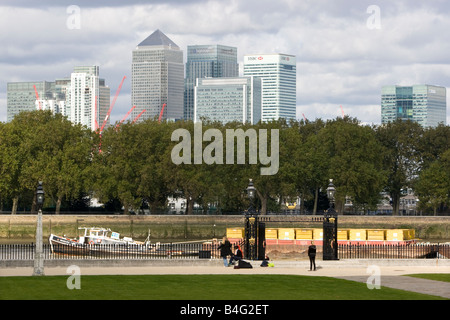
{"type": "Polygon", "coordinates": [[[192,45],[187,49],[184,119],[194,119],[194,87],[197,78],[238,77],[237,48],[192,45]]]}

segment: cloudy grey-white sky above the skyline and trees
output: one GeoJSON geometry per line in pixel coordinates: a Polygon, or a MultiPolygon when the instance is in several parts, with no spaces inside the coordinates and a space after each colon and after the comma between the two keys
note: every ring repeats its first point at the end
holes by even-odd
{"type": "Polygon", "coordinates": [[[7,82],[54,81],[79,65],[100,66],[111,101],[126,76],[111,114],[120,120],[131,108],[131,52],[156,29],[185,60],[188,45],[237,47],[241,72],[245,54],[295,55],[298,119],[343,110],[379,124],[383,85],[450,88],[447,0],[0,0],[0,29],[0,121],[7,82]]]}

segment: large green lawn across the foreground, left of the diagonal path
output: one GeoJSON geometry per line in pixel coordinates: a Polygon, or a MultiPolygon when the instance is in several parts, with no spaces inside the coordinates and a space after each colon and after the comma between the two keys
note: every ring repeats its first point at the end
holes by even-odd
{"type": "Polygon", "coordinates": [[[0,277],[0,300],[427,300],[440,299],[329,277],[295,275],[113,275],[0,277]]]}

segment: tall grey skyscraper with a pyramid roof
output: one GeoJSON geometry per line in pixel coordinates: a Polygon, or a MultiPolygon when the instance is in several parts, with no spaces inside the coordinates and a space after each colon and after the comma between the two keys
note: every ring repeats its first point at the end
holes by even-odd
{"type": "Polygon", "coordinates": [[[132,117],[146,110],[138,121],[158,117],[183,118],[183,51],[164,33],[156,30],[133,50],[131,101],[132,117]]]}

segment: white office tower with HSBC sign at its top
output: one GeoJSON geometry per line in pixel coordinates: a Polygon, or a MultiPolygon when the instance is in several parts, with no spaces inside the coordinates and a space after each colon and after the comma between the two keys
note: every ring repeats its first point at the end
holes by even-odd
{"type": "Polygon", "coordinates": [[[244,76],[262,79],[263,122],[296,119],[296,58],[287,54],[244,56],[244,76]]]}

